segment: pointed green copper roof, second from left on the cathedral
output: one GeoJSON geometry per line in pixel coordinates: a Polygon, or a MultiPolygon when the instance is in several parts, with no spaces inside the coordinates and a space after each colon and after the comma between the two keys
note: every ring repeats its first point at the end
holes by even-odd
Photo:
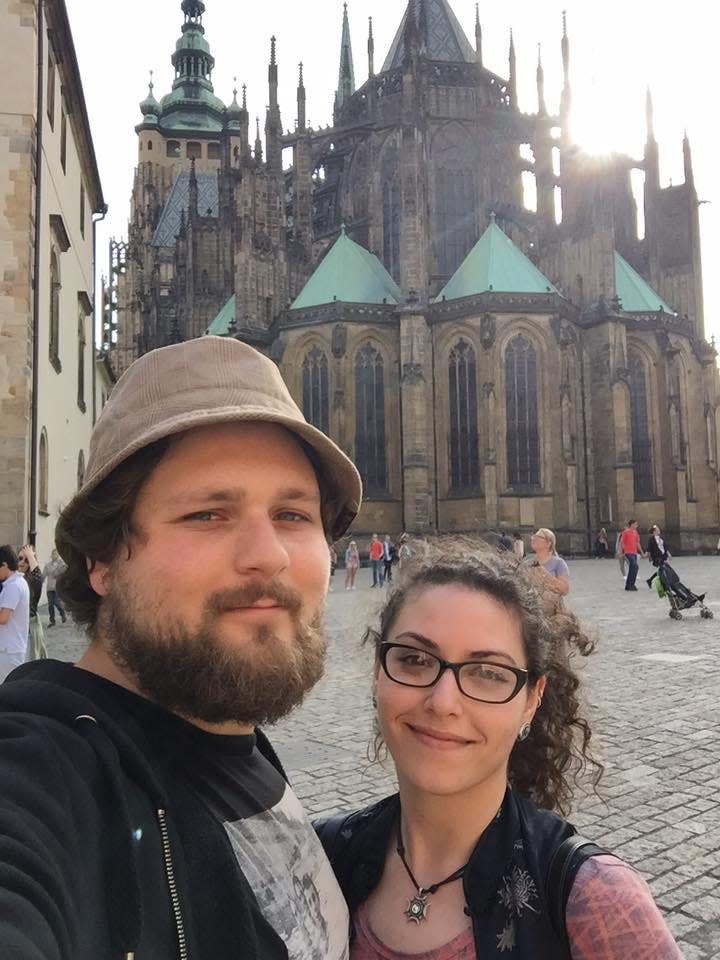
{"type": "Polygon", "coordinates": [[[291,310],[343,303],[399,303],[400,288],[380,263],[359,243],[342,233],[305,284],[291,310]]]}

